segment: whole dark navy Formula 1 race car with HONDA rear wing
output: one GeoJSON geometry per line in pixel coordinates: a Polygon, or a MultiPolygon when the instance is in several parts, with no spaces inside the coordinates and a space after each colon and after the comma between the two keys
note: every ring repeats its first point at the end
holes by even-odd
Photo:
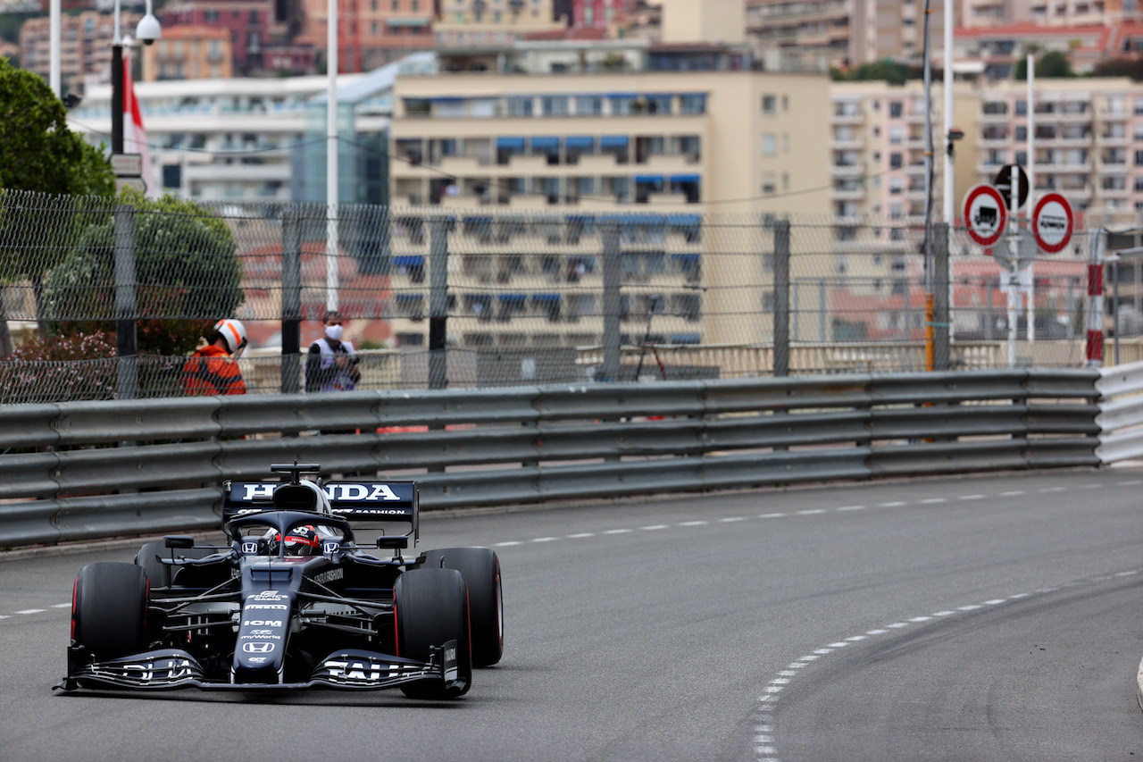
{"type": "MultiPolygon", "coordinates": [[[[169,535],[135,563],[75,578],[67,676],[55,688],[467,692],[504,652],[499,559],[488,548],[401,556],[419,539],[414,482],[223,485],[226,546],[169,535]],[[366,551],[351,523],[398,522],[366,551]],[[371,549],[371,548],[370,548],[371,549]]],[[[279,477],[281,478],[281,477],[279,477]]]]}

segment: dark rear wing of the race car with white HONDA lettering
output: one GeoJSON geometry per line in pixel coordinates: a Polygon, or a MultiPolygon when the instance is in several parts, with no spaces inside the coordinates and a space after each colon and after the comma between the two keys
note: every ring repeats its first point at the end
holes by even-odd
{"type": "MultiPolygon", "coordinates": [[[[270,510],[274,492],[285,483],[224,482],[222,519],[229,522],[270,510]]],[[[408,522],[414,543],[421,534],[421,492],[416,482],[329,482],[319,487],[329,498],[334,516],[352,522],[408,522]]],[[[312,493],[311,493],[312,494],[312,493]]],[[[290,510],[296,510],[290,506],[290,510]]]]}

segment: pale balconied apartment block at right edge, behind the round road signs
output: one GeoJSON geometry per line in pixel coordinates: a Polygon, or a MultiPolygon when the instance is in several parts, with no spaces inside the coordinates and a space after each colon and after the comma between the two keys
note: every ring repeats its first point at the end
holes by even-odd
{"type": "Polygon", "coordinates": [[[1033,161],[1023,82],[980,92],[978,182],[1015,161],[1036,193],[1056,191],[1092,224],[1136,223],[1143,213],[1143,92],[1129,79],[1050,79],[1036,86],[1033,161]]]}

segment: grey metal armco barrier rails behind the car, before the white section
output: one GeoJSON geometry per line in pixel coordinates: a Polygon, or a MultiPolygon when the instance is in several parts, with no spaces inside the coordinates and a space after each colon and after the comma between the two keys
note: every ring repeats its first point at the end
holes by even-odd
{"type": "Polygon", "coordinates": [[[1098,379],[1016,370],[0,406],[0,546],[218,526],[222,479],[293,459],[416,478],[425,509],[1097,465],[1098,379]]]}

